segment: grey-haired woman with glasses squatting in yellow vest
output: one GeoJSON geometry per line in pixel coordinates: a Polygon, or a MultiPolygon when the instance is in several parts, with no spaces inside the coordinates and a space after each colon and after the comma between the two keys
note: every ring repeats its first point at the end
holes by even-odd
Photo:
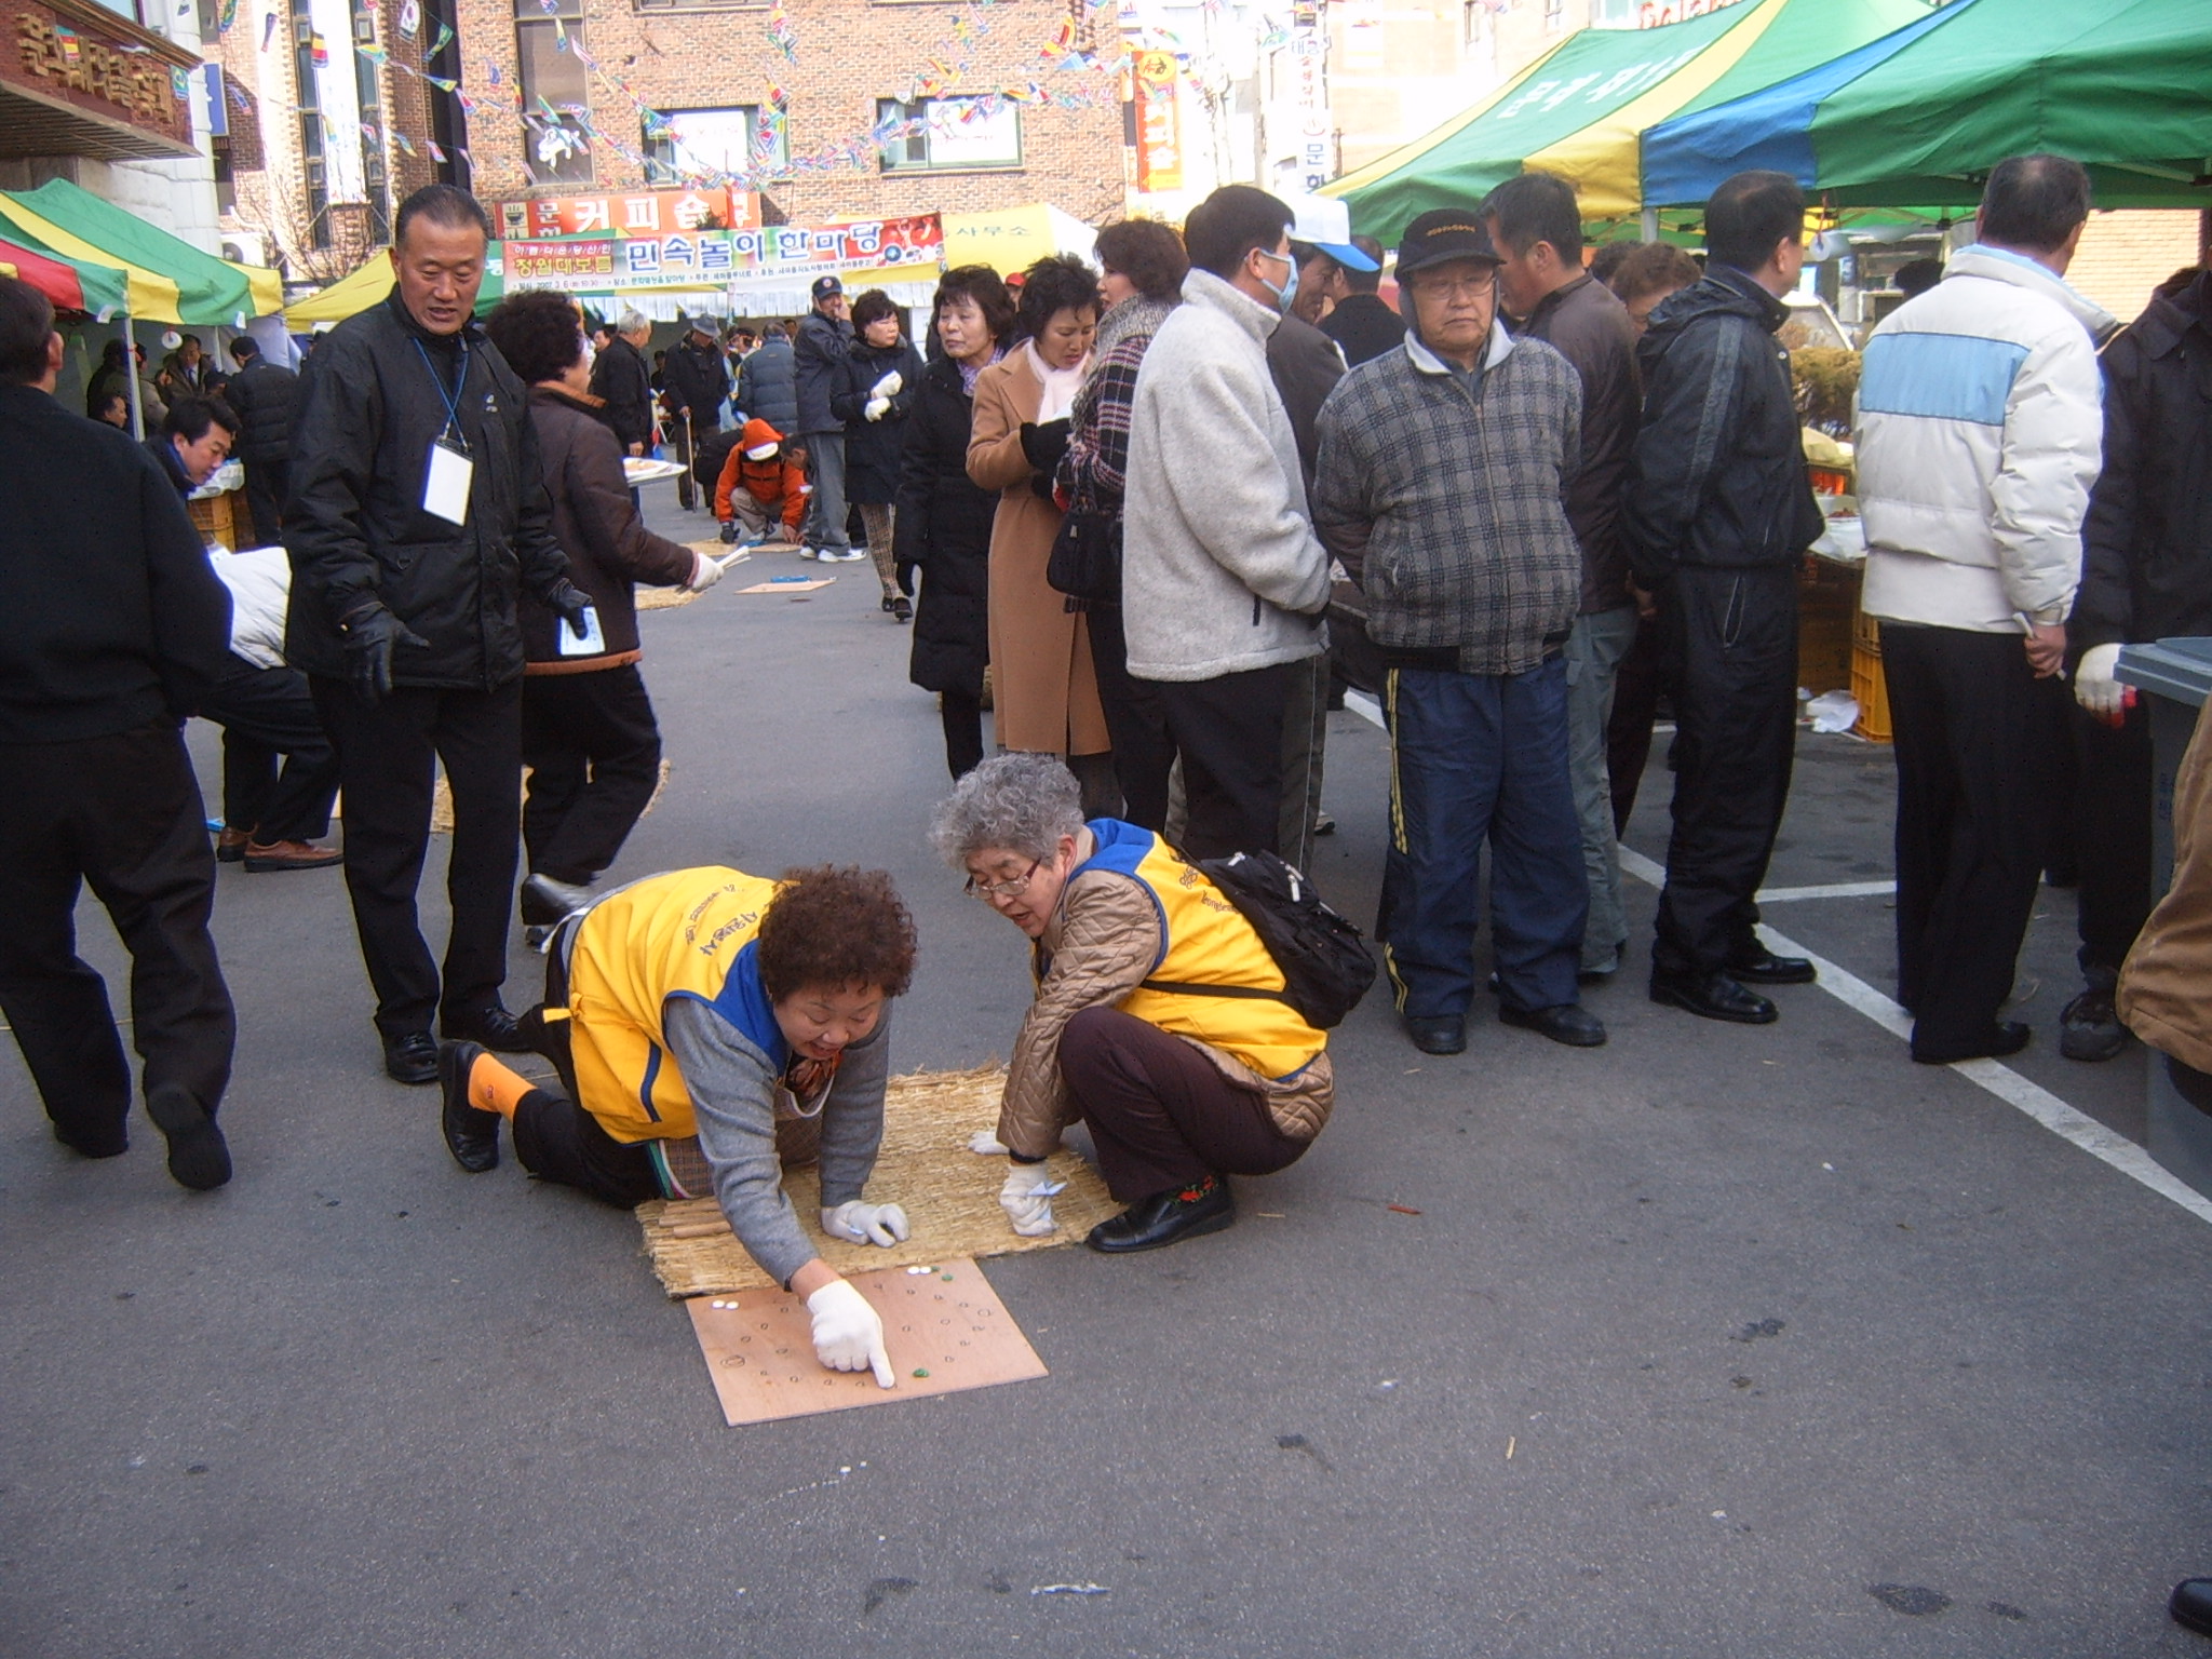
{"type": "MultiPolygon", "coordinates": [[[[938,854],[1033,940],[1037,1000],[998,1117],[1015,1232],[1053,1230],[1042,1159],[1082,1117],[1130,1208],[1091,1230],[1128,1252],[1237,1219],[1230,1175],[1272,1175],[1329,1117],[1327,1037],[1214,883],[1150,830],[1084,823],[1053,754],[1000,754],[936,814],[938,854]]],[[[978,1150],[998,1150],[978,1137],[978,1150]]]]}

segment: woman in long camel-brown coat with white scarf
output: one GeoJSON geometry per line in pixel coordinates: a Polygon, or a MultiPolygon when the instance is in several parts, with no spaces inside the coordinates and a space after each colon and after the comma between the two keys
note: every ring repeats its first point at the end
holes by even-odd
{"type": "Polygon", "coordinates": [[[1060,533],[1053,467],[1068,447],[1068,407],[1091,367],[1097,316],[1097,272],[1079,259],[1040,259],[1024,272],[1020,345],[975,376],[969,478],[978,489],[1000,491],[991,522],[998,745],[1066,754],[1084,781],[1084,805],[1113,812],[1119,792],[1091,672],[1091,635],[1044,580],[1060,533]]]}

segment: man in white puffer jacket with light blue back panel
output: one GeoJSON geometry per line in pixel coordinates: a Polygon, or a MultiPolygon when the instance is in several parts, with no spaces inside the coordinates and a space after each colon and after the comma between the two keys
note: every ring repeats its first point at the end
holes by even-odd
{"type": "Polygon", "coordinates": [[[1898,757],[1898,1000],[1929,1064],[2028,1040],[1997,1009],[2064,810],[2057,675],[2112,330],[2064,281],[2088,210],[2075,161],[2000,161],[1975,243],[1874,330],[1858,385],[1863,604],[1898,757]]]}

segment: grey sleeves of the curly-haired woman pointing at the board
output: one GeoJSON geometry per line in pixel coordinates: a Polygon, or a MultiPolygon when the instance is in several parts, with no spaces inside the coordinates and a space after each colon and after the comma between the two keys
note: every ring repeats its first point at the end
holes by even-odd
{"type": "MultiPolygon", "coordinates": [[[[787,1285],[821,1250],[799,1225],[776,1157],[774,1062],[699,998],[668,998],[668,1053],[699,1119],[699,1150],[714,1170],[714,1197],[748,1254],[787,1285]]],[[[823,1102],[823,1208],[858,1199],[883,1146],[883,1084],[891,1068],[891,1009],[867,1042],[845,1051],[823,1102]]]]}

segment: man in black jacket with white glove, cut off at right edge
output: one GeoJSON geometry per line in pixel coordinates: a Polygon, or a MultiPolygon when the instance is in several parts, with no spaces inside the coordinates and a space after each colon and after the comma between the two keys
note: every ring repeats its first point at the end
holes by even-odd
{"type": "Polygon", "coordinates": [[[2212,274],[2172,276],[2104,347],[2104,471],[2081,526],[2075,655],[2081,978],[2059,1053],[2110,1060],[2119,964],[2150,916],[2150,708],[2112,666],[2124,644],[2212,635],[2212,274]]]}

